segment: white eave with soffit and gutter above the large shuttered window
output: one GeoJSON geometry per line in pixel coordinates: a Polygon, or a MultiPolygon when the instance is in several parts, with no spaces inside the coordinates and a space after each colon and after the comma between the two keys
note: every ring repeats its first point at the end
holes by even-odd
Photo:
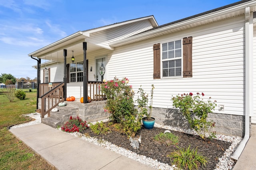
{"type": "Polygon", "coordinates": [[[192,27],[198,27],[200,25],[212,23],[215,21],[224,20],[226,18],[232,18],[232,17],[244,15],[245,7],[247,6],[251,7],[250,12],[256,11],[255,0],[242,0],[239,2],[235,2],[233,4],[222,6],[220,8],[202,12],[194,16],[183,18],[181,20],[166,23],[164,25],[160,25],[152,29],[148,29],[144,32],[138,33],[126,39],[122,39],[120,41],[110,43],[110,46],[119,47],[129,43],[134,43],[134,42],[142,41],[149,38],[159,37],[168,33],[174,33],[176,31],[185,30],[192,27]]]}

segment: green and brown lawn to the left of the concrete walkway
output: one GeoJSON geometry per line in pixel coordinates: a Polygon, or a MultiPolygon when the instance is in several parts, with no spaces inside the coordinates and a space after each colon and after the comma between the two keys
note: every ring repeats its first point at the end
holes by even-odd
{"type": "Polygon", "coordinates": [[[28,92],[24,100],[15,98],[14,102],[9,102],[5,92],[0,90],[0,170],[56,170],[7,130],[10,125],[30,121],[22,114],[35,112],[36,92],[28,92]]]}

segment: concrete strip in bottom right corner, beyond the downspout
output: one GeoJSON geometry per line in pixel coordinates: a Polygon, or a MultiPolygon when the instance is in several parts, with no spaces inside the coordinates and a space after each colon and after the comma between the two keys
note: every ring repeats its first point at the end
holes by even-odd
{"type": "Polygon", "coordinates": [[[251,136],[233,170],[256,170],[256,125],[251,127],[251,136]]]}

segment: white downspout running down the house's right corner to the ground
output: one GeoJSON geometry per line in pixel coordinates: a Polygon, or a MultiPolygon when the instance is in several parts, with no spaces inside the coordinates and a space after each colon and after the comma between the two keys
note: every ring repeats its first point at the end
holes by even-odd
{"type": "Polygon", "coordinates": [[[253,25],[250,6],[245,8],[245,133],[230,160],[237,161],[250,138],[250,113],[253,111],[253,25]]]}

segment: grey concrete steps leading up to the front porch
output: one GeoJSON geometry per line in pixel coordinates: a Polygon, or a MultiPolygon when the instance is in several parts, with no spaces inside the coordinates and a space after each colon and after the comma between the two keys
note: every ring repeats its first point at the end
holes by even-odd
{"type": "Polygon", "coordinates": [[[57,128],[58,126],[64,125],[70,118],[70,116],[76,116],[78,113],[77,107],[72,106],[57,106],[59,111],[50,111],[50,117],[42,119],[42,123],[51,127],[57,128]]]}

